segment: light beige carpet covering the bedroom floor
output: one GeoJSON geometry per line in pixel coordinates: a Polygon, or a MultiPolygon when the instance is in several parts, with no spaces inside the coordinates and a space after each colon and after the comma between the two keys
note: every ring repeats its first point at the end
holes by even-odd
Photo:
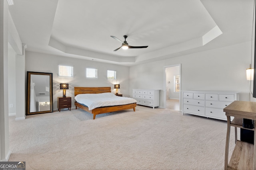
{"type": "MultiPolygon", "coordinates": [[[[144,106],[92,117],[82,109],[11,116],[9,161],[26,161],[26,170],[224,169],[226,121],[144,106]]],[[[230,152],[234,145],[231,128],[230,152]]]]}

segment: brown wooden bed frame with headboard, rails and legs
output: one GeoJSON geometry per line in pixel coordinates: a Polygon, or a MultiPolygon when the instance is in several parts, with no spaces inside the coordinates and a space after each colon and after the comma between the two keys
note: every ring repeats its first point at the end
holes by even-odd
{"type": "MultiPolygon", "coordinates": [[[[78,94],[93,94],[93,93],[107,93],[111,92],[111,87],[74,87],[75,96],[78,94]]],[[[83,106],[77,102],[75,102],[76,109],[77,107],[93,114],[93,119],[95,119],[96,115],[102,113],[109,113],[113,111],[120,111],[126,109],[133,109],[135,111],[136,103],[126,104],[126,105],[118,105],[118,106],[107,106],[107,107],[98,107],[92,110],[89,110],[88,107],[83,106]]]]}

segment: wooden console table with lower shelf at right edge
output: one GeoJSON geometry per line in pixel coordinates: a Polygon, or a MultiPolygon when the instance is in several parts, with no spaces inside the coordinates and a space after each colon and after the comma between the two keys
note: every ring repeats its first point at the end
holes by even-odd
{"type": "MultiPolygon", "coordinates": [[[[256,120],[256,102],[234,101],[225,107],[224,112],[227,116],[227,137],[225,150],[225,170],[256,170],[256,147],[253,144],[237,141],[237,127],[246,129],[242,126],[242,119],[256,120]],[[230,121],[230,116],[234,116],[230,121]],[[235,127],[236,146],[233,150],[230,162],[228,163],[228,148],[230,139],[230,126],[235,127]]],[[[256,131],[254,131],[254,144],[256,144],[256,131]]]]}

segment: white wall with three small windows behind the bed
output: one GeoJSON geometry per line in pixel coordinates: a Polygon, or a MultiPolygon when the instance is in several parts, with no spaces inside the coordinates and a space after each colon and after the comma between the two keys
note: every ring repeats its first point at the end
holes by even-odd
{"type": "MultiPolygon", "coordinates": [[[[53,107],[57,109],[57,98],[62,96],[60,83],[68,83],[69,89],[66,90],[66,96],[72,97],[72,107],[74,107],[74,87],[112,87],[113,84],[120,84],[119,94],[129,97],[129,67],[116,64],[100,63],[97,61],[88,61],[48,55],[26,51],[26,71],[51,72],[53,73],[53,107]],[[74,66],[74,78],[59,78],[58,64],[74,66]],[[86,67],[98,69],[98,79],[86,79],[86,67]],[[107,70],[116,71],[116,80],[107,79],[107,70]]],[[[112,92],[115,90],[112,87],[112,92]]]]}

